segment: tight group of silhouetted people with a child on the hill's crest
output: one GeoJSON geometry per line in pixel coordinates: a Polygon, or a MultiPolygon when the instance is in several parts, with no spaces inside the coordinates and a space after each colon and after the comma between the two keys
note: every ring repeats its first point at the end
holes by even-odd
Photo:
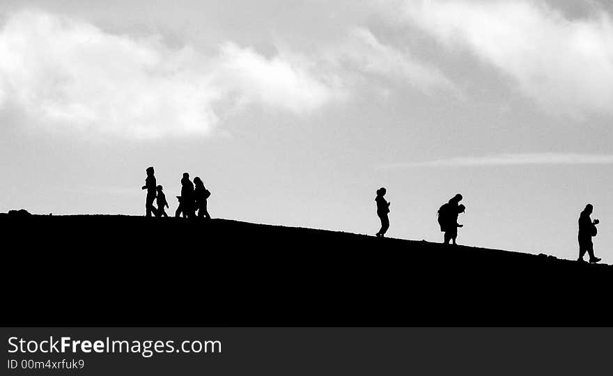
{"type": "MultiPolygon", "coordinates": [[[[168,217],[165,207],[169,207],[166,201],[166,195],[162,191],[161,185],[156,185],[153,167],[147,170],[147,178],[142,189],[147,189],[147,198],[145,201],[146,217],[168,217]],[[157,198],[157,207],[153,206],[153,201],[157,198]]],[[[206,201],[210,197],[210,191],[204,187],[201,178],[194,178],[192,183],[189,180],[189,173],[183,173],[181,178],[181,195],[177,196],[179,205],[175,212],[175,217],[180,217],[183,214],[184,218],[205,217],[210,219],[208,214],[206,201]],[[196,215],[197,212],[197,215],[196,215]]]]}

